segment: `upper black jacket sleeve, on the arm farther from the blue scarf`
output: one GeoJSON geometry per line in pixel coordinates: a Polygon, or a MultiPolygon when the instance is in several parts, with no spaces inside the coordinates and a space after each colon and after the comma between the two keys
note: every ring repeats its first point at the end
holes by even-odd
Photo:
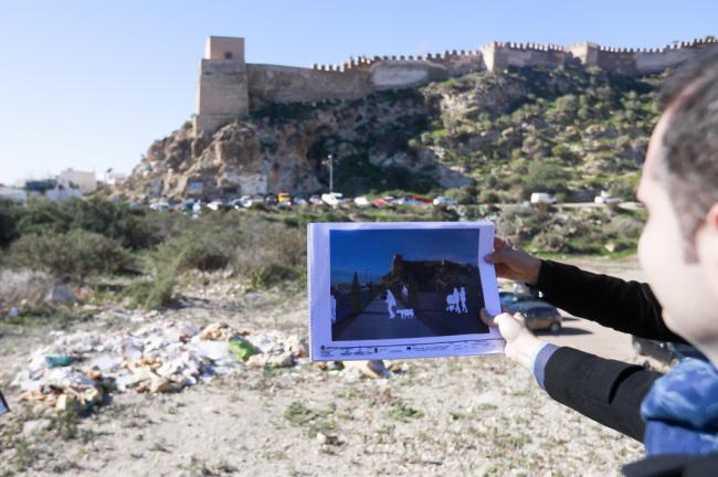
{"type": "Polygon", "coordinates": [[[661,305],[646,284],[541,261],[536,287],[547,301],[571,315],[642,338],[686,342],[666,327],[661,305]]]}

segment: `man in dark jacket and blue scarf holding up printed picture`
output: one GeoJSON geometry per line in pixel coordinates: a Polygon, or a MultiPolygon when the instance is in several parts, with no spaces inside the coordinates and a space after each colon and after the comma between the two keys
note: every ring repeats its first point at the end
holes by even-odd
{"type": "Polygon", "coordinates": [[[648,284],[541,261],[497,239],[486,261],[572,315],[638,337],[688,342],[708,359],[685,359],[662,375],[537,339],[519,315],[498,326],[506,356],[529,368],[548,394],[642,441],[647,457],[629,476],[718,474],[718,54],[684,65],[663,93],[638,199],[648,220],[638,258],[648,284]]]}

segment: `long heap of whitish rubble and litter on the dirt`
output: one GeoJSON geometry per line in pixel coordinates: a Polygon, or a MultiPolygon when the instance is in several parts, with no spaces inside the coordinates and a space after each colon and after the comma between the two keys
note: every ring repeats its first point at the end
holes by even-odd
{"type": "Polygon", "coordinates": [[[23,391],[21,400],[61,411],[101,404],[107,390],[173,392],[243,363],[292,367],[307,354],[297,336],[253,333],[221,322],[200,328],[165,321],[110,337],[96,331],[59,335],[32,353],[13,385],[23,391]]]}

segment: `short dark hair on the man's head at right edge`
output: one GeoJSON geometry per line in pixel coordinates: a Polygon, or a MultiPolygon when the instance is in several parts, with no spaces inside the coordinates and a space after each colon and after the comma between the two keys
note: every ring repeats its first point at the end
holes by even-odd
{"type": "Polygon", "coordinates": [[[718,49],[679,66],[658,102],[672,115],[661,176],[684,235],[691,237],[718,202],[718,49]]]}

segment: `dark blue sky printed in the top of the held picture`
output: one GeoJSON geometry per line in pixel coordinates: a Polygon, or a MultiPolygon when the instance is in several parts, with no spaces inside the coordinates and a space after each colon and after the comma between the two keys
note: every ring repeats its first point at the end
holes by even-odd
{"type": "Polygon", "coordinates": [[[367,275],[376,282],[395,254],[405,261],[478,262],[478,231],[471,229],[331,231],[329,241],[332,284],[350,282],[355,272],[360,283],[367,275]]]}

